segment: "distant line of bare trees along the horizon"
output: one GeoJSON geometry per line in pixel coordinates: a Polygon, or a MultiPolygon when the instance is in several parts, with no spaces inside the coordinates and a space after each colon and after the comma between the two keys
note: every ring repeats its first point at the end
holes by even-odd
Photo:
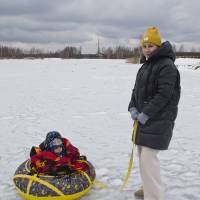
{"type": "MultiPolygon", "coordinates": [[[[177,57],[194,57],[200,58],[200,52],[192,48],[191,52],[185,52],[184,46],[181,45],[177,51],[176,45],[173,50],[177,57]]],[[[81,47],[67,46],[63,50],[44,52],[41,49],[31,48],[23,50],[8,46],[0,46],[0,58],[105,58],[105,59],[126,59],[133,58],[137,62],[141,56],[141,48],[130,48],[126,46],[107,47],[97,51],[96,54],[82,54],[81,47]]]]}

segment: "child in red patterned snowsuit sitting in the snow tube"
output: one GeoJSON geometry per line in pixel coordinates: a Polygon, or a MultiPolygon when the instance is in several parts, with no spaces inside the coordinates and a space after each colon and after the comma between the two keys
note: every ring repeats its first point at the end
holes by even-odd
{"type": "Polygon", "coordinates": [[[31,173],[59,175],[88,169],[86,157],[57,131],[47,133],[39,147],[32,147],[30,157],[31,173]]]}

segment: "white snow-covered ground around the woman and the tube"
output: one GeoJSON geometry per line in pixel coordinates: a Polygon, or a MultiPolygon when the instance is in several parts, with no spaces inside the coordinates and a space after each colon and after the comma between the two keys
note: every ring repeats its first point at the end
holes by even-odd
{"type": "MultiPolygon", "coordinates": [[[[200,199],[200,60],[177,59],[182,96],[170,149],[160,153],[166,199],[200,199]]],[[[127,106],[140,65],[125,60],[0,60],[0,199],[20,200],[12,176],[48,131],[60,131],[94,164],[97,179],[83,200],[134,199],[138,158],[123,192],[131,151],[127,106]]],[[[135,152],[136,153],[136,152],[135,152]]]]}

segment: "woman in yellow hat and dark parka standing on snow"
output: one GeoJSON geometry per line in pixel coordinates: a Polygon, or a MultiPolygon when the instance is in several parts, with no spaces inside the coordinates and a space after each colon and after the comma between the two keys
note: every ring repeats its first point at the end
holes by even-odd
{"type": "Polygon", "coordinates": [[[159,150],[167,150],[180,99],[180,75],[174,65],[171,44],[161,43],[156,27],[149,27],[141,40],[143,65],[138,71],[128,110],[138,121],[138,145],[142,188],[136,196],[163,200],[159,150]]]}

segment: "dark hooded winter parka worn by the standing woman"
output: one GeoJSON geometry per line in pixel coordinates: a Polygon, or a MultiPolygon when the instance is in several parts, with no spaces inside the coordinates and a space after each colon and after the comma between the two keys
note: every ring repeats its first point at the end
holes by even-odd
{"type": "Polygon", "coordinates": [[[139,123],[136,144],[168,149],[180,99],[180,74],[169,42],[156,49],[138,71],[128,110],[136,107],[149,119],[139,123]]]}

